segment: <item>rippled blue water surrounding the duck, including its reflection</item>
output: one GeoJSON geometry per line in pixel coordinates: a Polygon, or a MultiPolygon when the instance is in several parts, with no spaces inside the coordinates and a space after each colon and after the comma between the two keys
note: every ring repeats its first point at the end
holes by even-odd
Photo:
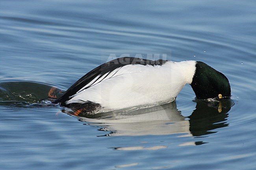
{"type": "Polygon", "coordinates": [[[254,0],[0,4],[0,90],[13,95],[0,96],[0,169],[255,169],[254,0]],[[67,90],[124,55],[206,62],[228,77],[232,101],[219,113],[187,85],[167,106],[76,117],[27,96],[67,90]],[[17,81],[26,90],[4,88],[17,81]]]}

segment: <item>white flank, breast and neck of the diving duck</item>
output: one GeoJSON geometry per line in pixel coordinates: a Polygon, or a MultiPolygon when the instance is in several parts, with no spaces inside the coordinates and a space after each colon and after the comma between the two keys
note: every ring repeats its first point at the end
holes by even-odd
{"type": "Polygon", "coordinates": [[[172,102],[185,84],[191,84],[195,65],[196,61],[167,61],[161,66],[126,65],[96,82],[95,78],[65,103],[91,101],[104,108],[122,109],[172,102]]]}

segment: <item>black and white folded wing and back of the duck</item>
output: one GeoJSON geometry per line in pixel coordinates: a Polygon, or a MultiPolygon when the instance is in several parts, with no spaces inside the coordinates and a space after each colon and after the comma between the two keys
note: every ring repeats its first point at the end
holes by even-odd
{"type": "MultiPolygon", "coordinates": [[[[124,66],[127,65],[141,65],[141,66],[161,66],[164,64],[165,60],[146,60],[143,58],[133,58],[133,57],[122,57],[116,58],[109,62],[106,62],[97,68],[93,69],[82,78],[80,78],[77,82],[75,82],[59,99],[54,101],[53,103],[61,104],[65,106],[66,104],[70,104],[71,102],[90,102],[86,100],[86,97],[83,97],[79,100],[72,101],[72,98],[82,91],[89,90],[93,88],[96,84],[99,84],[105,80],[116,78],[119,75],[125,74],[127,70],[120,70],[124,66]],[[83,100],[85,99],[85,101],[83,100]]],[[[136,67],[130,68],[136,71],[136,67]]],[[[140,68],[139,68],[140,69],[140,68]]]]}

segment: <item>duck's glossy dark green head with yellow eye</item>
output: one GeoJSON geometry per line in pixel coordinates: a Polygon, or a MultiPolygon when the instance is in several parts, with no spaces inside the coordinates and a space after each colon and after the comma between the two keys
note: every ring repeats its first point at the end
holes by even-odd
{"type": "Polygon", "coordinates": [[[197,99],[223,99],[231,96],[226,76],[204,62],[197,61],[192,83],[197,99]]]}

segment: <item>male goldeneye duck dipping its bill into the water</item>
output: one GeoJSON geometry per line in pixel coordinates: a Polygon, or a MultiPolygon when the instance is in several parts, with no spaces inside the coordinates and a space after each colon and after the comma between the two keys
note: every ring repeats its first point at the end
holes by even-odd
{"type": "Polygon", "coordinates": [[[204,62],[122,57],[93,69],[53,103],[75,109],[76,115],[154,106],[174,101],[185,84],[197,99],[231,95],[228,79],[204,62]]]}

